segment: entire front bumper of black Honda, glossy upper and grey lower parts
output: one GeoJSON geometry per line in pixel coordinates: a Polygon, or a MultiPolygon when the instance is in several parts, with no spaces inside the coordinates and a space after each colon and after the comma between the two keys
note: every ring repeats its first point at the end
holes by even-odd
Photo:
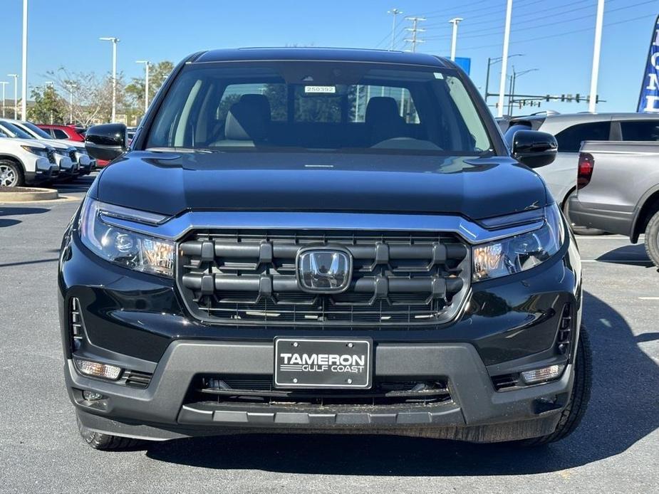
{"type": "MultiPolygon", "coordinates": [[[[554,431],[571,392],[574,348],[557,351],[561,312],[581,321],[581,268],[573,238],[553,259],[524,273],[472,284],[457,320],[421,330],[323,330],[205,325],[187,315],[172,280],[110,265],[76,235],[65,237],[60,314],[66,385],[83,425],[95,431],[167,439],[242,431],[375,432],[466,441],[508,441],[554,431]],[[150,374],[145,389],[76,371],[69,304],[85,327],[76,357],[150,374]],[[371,337],[374,375],[441,378],[450,400],[438,404],[291,406],[210,404],[192,398],[202,374],[271,376],[275,336],[371,337]],[[566,364],[547,384],[497,391],[493,377],[566,364]],[[86,401],[83,391],[104,397],[86,401]]],[[[574,345],[573,345],[574,347],[574,345]]]]}

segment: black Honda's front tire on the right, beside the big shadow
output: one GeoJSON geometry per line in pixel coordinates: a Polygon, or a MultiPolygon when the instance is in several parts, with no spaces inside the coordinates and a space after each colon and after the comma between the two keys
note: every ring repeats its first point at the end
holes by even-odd
{"type": "Polygon", "coordinates": [[[576,359],[574,360],[572,394],[570,395],[570,401],[561,413],[561,419],[559,419],[556,430],[546,436],[517,441],[516,446],[544,446],[545,444],[561,441],[561,439],[573,433],[581,423],[583,414],[586,413],[588,407],[588,400],[591,398],[592,374],[591,342],[586,328],[581,326],[576,359]]]}

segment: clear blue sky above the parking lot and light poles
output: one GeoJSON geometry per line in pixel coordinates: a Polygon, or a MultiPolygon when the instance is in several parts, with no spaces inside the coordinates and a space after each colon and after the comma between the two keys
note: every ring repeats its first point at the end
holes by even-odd
{"type": "MultiPolygon", "coordinates": [[[[61,66],[98,73],[110,69],[110,43],[121,42],[118,68],[127,78],[142,75],[135,60],[179,61],[204,48],[236,46],[356,46],[388,48],[396,7],[397,48],[403,42],[405,16],[425,16],[420,23],[426,42],[417,48],[450,53],[448,19],[460,16],[457,56],[472,58],[472,79],[484,88],[488,57],[502,51],[505,0],[264,1],[220,0],[30,0],[28,85],[48,80],[61,66]]],[[[0,80],[21,70],[22,0],[2,0],[0,80]]],[[[538,68],[517,81],[524,93],[587,94],[593,50],[596,0],[514,0],[510,53],[516,70],[538,68]]],[[[645,57],[659,0],[606,0],[599,111],[635,111],[645,57]]],[[[499,65],[493,65],[491,88],[498,88],[499,65]]],[[[13,96],[11,84],[7,97],[13,96]]],[[[494,98],[491,101],[494,103],[494,98]]],[[[585,103],[543,103],[541,109],[586,111],[585,103]]],[[[537,108],[516,110],[537,111],[537,108]]]]}

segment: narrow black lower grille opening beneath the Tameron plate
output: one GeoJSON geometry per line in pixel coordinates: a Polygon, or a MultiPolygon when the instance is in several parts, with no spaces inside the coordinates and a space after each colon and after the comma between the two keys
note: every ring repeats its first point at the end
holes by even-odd
{"type": "Polygon", "coordinates": [[[190,389],[188,402],[214,401],[220,404],[268,404],[277,406],[330,405],[430,405],[452,401],[445,379],[382,377],[372,389],[276,389],[271,375],[201,376],[190,389]]]}

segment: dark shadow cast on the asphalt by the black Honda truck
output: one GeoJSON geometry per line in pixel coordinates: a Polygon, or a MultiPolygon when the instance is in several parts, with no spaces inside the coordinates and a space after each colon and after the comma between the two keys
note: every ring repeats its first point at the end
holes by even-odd
{"type": "Polygon", "coordinates": [[[643,335],[635,337],[610,305],[584,293],[583,313],[593,350],[591,402],[581,426],[551,446],[264,433],[153,443],[146,454],[204,468],[385,476],[526,475],[615,456],[659,426],[659,366],[638,347],[643,335]]]}

